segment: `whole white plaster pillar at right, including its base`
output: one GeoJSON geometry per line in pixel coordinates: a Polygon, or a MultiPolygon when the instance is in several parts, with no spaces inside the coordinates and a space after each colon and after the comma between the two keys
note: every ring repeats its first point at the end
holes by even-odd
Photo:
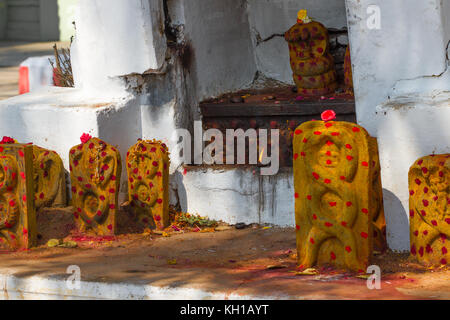
{"type": "Polygon", "coordinates": [[[407,251],[409,167],[421,156],[450,152],[449,96],[431,98],[450,89],[450,10],[440,0],[346,0],[346,6],[357,120],[378,137],[389,247],[407,251]]]}

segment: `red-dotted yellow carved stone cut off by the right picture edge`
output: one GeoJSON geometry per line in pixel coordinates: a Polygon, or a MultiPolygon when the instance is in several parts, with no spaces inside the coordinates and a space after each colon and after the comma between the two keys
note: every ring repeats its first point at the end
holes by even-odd
{"type": "Polygon", "coordinates": [[[417,160],[409,170],[411,255],[437,265],[450,263],[450,154],[417,160]]]}

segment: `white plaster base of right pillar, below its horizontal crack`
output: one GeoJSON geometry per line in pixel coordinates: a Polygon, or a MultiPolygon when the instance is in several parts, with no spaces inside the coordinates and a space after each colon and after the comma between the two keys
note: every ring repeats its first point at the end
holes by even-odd
{"type": "Polygon", "coordinates": [[[420,157],[450,153],[450,94],[398,97],[377,107],[387,237],[409,250],[408,171],[420,157]]]}

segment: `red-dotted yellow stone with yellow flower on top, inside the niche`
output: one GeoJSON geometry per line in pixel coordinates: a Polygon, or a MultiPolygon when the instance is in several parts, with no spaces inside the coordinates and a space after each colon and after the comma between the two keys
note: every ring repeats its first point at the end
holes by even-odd
{"type": "Polygon", "coordinates": [[[311,20],[306,10],[298,12],[297,24],[284,35],[289,43],[289,56],[294,82],[304,95],[324,95],[337,88],[337,74],[330,54],[328,30],[311,20]]]}

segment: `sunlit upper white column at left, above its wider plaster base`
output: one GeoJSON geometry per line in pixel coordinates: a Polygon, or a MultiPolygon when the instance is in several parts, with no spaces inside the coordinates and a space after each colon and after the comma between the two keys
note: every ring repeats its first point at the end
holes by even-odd
{"type": "Polygon", "coordinates": [[[111,80],[164,63],[162,0],[80,0],[75,24],[72,67],[77,88],[114,94],[119,89],[111,80]]]}

